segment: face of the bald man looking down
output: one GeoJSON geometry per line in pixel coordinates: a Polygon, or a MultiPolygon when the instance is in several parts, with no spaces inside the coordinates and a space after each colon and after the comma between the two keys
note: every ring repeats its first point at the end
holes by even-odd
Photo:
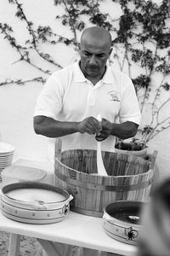
{"type": "Polygon", "coordinates": [[[91,39],[83,41],[80,49],[81,69],[87,78],[96,78],[105,72],[105,64],[111,55],[108,44],[91,39]]]}

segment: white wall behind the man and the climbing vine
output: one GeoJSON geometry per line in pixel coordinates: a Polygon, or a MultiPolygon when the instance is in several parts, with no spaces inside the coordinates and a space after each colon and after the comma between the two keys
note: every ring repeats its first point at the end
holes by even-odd
{"type": "MultiPolygon", "coordinates": [[[[68,29],[65,26],[61,26],[59,21],[54,19],[56,15],[63,12],[63,9],[59,6],[54,6],[53,0],[20,0],[20,3],[23,3],[23,9],[26,11],[28,20],[32,20],[35,26],[51,26],[54,32],[69,36],[68,29]]],[[[102,8],[109,9],[110,3],[111,1],[104,0],[102,8]]],[[[15,17],[15,11],[14,4],[1,0],[0,22],[7,22],[12,26],[18,43],[23,44],[29,35],[26,31],[26,24],[15,17]]],[[[111,9],[111,12],[114,12],[114,9],[111,9]]],[[[117,12],[121,13],[121,10],[117,9],[117,12]]],[[[115,16],[117,12],[115,11],[115,16]]],[[[55,61],[58,61],[62,67],[70,64],[77,57],[74,49],[63,44],[58,44],[54,47],[42,44],[40,47],[42,50],[46,47],[45,51],[54,55],[55,61]]],[[[38,76],[48,77],[48,75],[44,75],[23,61],[14,63],[19,58],[20,56],[0,34],[0,83],[7,78],[26,80],[38,76]]],[[[32,60],[37,66],[50,67],[52,72],[57,69],[57,67],[50,66],[45,61],[40,60],[35,52],[32,54],[32,60]]],[[[34,160],[46,159],[47,139],[37,136],[32,126],[33,110],[40,90],[42,90],[42,84],[37,84],[36,82],[25,85],[9,84],[0,86],[0,133],[3,142],[11,143],[15,146],[15,158],[22,156],[34,160]]],[[[152,153],[154,149],[159,152],[157,164],[160,168],[161,177],[170,176],[170,130],[163,131],[150,142],[149,151],[152,153]]]]}

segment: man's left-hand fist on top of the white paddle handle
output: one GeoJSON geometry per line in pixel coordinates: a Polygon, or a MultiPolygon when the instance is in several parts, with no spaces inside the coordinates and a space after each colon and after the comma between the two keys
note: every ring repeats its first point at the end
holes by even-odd
{"type": "Polygon", "coordinates": [[[79,122],[77,125],[77,129],[81,133],[87,132],[88,134],[98,135],[102,127],[98,119],[95,119],[93,116],[90,116],[79,122]]]}

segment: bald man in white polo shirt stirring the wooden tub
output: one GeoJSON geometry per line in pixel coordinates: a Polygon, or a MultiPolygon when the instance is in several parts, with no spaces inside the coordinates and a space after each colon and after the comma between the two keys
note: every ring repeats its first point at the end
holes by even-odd
{"type": "MultiPolygon", "coordinates": [[[[53,73],[38,96],[34,130],[54,138],[48,148],[53,165],[56,137],[62,137],[63,151],[96,150],[98,140],[103,151],[114,152],[116,137],[136,134],[140,111],[133,83],[109,65],[111,51],[110,32],[88,27],[82,32],[80,60],[53,73]]],[[[83,250],[83,255],[96,253],[83,250]]]]}

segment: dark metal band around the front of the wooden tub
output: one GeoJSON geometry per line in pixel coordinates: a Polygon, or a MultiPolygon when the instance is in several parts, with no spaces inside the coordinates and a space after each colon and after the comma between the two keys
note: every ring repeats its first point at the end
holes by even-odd
{"type": "Polygon", "coordinates": [[[153,182],[153,177],[151,177],[148,181],[140,184],[109,186],[109,185],[100,185],[95,183],[83,183],[82,181],[68,177],[58,171],[55,172],[55,175],[65,183],[82,187],[84,189],[94,189],[94,190],[100,190],[100,191],[102,190],[102,191],[122,192],[122,191],[139,190],[139,189],[147,188],[153,182]]]}

